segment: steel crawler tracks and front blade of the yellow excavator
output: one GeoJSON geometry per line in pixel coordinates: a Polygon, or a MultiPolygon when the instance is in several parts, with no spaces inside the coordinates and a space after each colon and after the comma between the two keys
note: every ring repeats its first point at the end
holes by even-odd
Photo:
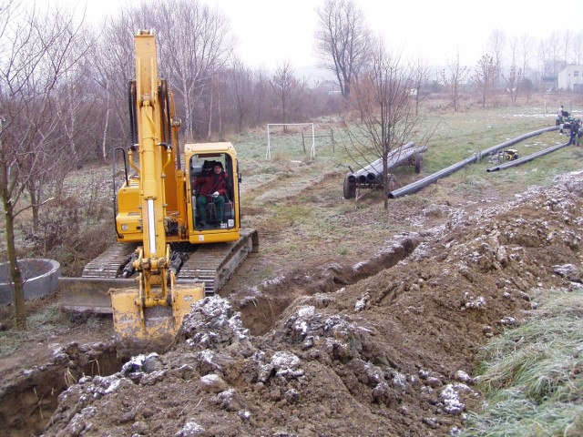
{"type": "MultiPolygon", "coordinates": [[[[87,263],[81,278],[59,278],[61,309],[73,312],[111,313],[110,289],[136,286],[136,275],[118,278],[123,266],[137,248],[135,244],[116,243],[87,263]]],[[[251,252],[259,250],[256,229],[241,229],[240,239],[230,243],[189,246],[189,259],[179,271],[178,283],[204,282],[211,296],[230,279],[251,252]]]]}

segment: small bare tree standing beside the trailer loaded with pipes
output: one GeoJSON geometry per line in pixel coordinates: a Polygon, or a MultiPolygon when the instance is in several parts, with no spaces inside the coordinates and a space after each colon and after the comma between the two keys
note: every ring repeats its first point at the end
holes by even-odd
{"type": "Polygon", "coordinates": [[[373,50],[372,63],[363,75],[353,82],[350,103],[357,109],[357,119],[346,120],[351,127],[353,158],[372,161],[382,158],[384,208],[389,207],[388,195],[392,175],[389,174],[389,153],[411,140],[419,126],[415,113],[414,75],[403,65],[401,56],[391,56],[379,41],[373,50]],[[368,158],[368,159],[367,159],[368,158]]]}

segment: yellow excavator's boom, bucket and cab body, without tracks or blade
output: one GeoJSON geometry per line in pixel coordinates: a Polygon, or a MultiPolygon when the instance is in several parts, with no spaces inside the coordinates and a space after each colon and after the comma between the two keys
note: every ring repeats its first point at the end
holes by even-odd
{"type": "MultiPolygon", "coordinates": [[[[174,102],[159,79],[155,37],[135,36],[136,80],[130,84],[133,131],[127,178],[117,194],[118,241],[138,243],[133,267],[137,286],[112,289],[114,330],[121,351],[160,350],[173,340],[190,305],[205,296],[204,283],[178,284],[171,269],[171,243],[214,243],[240,238],[238,165],[230,143],[189,144],[185,171],[180,164],[174,102]],[[135,157],[137,155],[137,157],[135,157]],[[138,158],[138,159],[136,159],[138,158]],[[138,163],[134,161],[137,160],[138,163]],[[196,197],[191,183],[197,164],[219,160],[229,172],[228,223],[196,229],[196,197]]],[[[200,176],[200,175],[199,175],[200,176]]]]}

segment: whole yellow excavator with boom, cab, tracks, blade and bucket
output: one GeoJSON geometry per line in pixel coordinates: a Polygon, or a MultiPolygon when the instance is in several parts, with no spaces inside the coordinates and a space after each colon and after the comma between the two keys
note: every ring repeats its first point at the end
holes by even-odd
{"type": "Polygon", "coordinates": [[[63,310],[113,313],[118,355],[125,356],[167,347],[190,305],[220,290],[259,247],[256,230],[240,229],[235,148],[229,142],[186,144],[181,157],[180,120],[159,78],[155,36],[142,30],[134,41],[131,145],[127,155],[123,147],[115,150],[125,170],[118,188],[114,165],[118,243],[90,261],[81,278],[59,279],[63,310]],[[222,198],[216,201],[215,193],[197,205],[204,196],[199,182],[215,171],[223,180],[222,198]]]}

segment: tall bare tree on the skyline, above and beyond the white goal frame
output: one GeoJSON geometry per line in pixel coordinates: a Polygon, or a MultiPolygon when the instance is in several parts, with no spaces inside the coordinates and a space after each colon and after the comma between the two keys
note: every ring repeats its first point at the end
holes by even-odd
{"type": "Polygon", "coordinates": [[[343,97],[349,97],[351,82],[369,58],[371,37],[363,12],[353,0],[325,0],[316,12],[317,51],[322,56],[322,66],[336,76],[343,97]]]}

